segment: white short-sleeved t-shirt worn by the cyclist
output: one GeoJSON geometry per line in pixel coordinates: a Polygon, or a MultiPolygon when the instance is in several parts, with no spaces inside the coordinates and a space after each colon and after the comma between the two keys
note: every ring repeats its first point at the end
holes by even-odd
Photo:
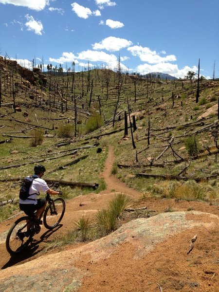
{"type": "Polygon", "coordinates": [[[47,192],[50,188],[48,187],[47,183],[40,178],[37,178],[33,180],[33,183],[31,184],[29,194],[30,196],[28,198],[35,199],[34,200],[21,200],[19,199],[20,204],[37,204],[38,199],[38,193],[39,192],[47,192]],[[33,194],[33,195],[31,195],[33,194]]]}

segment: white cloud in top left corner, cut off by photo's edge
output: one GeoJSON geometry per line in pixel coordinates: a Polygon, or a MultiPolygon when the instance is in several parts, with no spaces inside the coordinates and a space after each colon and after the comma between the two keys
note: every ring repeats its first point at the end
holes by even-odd
{"type": "Polygon", "coordinates": [[[33,10],[43,10],[49,4],[48,0],[0,0],[2,4],[13,4],[15,6],[24,6],[33,10]]]}

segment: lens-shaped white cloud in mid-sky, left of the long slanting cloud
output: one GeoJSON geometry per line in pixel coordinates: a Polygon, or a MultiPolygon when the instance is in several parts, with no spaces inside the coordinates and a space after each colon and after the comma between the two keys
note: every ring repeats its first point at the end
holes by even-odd
{"type": "Polygon", "coordinates": [[[108,51],[119,51],[123,48],[126,48],[130,46],[132,42],[130,40],[127,40],[125,38],[119,38],[119,37],[107,37],[103,39],[99,43],[95,43],[92,45],[94,50],[108,50],[108,51]]]}

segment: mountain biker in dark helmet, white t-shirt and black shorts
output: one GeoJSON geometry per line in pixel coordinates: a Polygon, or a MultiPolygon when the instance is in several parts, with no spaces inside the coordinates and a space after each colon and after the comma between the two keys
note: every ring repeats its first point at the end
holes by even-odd
{"type": "Polygon", "coordinates": [[[46,199],[38,199],[39,192],[47,192],[50,195],[59,195],[61,191],[55,191],[48,187],[47,183],[41,179],[44,172],[46,171],[45,166],[43,165],[36,165],[34,167],[34,180],[30,186],[29,190],[29,197],[26,200],[19,199],[19,208],[21,211],[28,216],[33,216],[34,212],[36,212],[36,219],[41,215],[45,206],[46,206],[46,199]]]}

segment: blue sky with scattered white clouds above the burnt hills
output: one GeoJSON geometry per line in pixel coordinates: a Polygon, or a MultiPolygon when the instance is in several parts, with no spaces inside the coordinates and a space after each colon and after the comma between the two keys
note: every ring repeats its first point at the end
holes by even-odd
{"type": "Polygon", "coordinates": [[[219,0],[0,0],[0,55],[219,78],[219,0]]]}

